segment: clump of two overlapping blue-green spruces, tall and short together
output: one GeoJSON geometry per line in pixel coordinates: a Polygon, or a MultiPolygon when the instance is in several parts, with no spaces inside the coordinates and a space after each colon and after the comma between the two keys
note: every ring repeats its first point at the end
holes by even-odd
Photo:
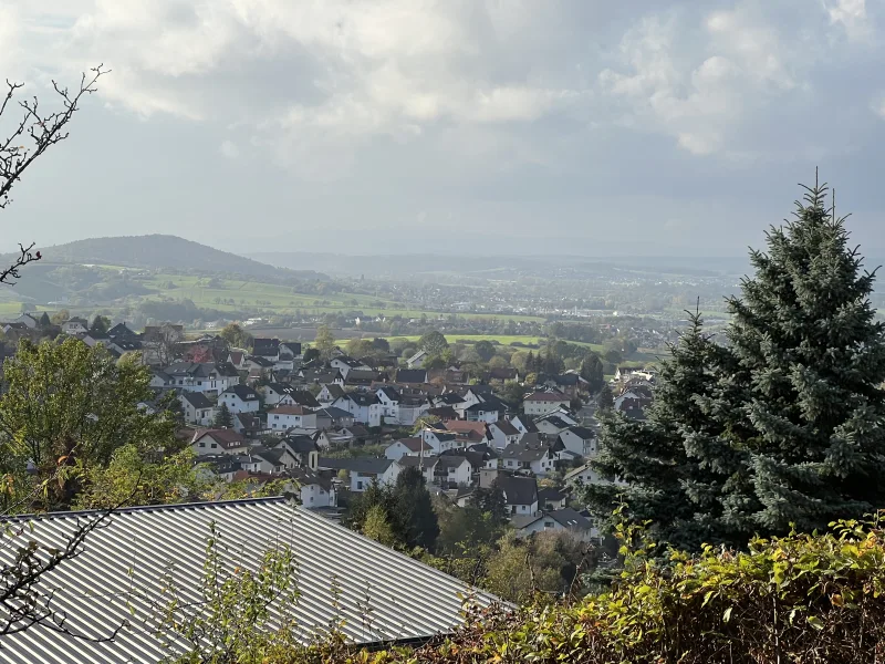
{"type": "Polygon", "coordinates": [[[751,253],[727,343],[695,319],[648,422],[607,418],[597,469],[632,486],[591,490],[598,513],[626,498],[664,541],[697,549],[885,507],[885,329],[825,194],[809,188],[751,253]]]}

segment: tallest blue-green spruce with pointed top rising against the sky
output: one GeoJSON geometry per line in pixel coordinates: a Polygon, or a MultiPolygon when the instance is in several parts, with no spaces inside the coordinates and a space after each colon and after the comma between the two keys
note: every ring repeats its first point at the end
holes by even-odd
{"type": "Polygon", "coordinates": [[[806,187],[795,219],[750,255],[756,276],[728,301],[732,365],[718,416],[747,469],[727,518],[763,533],[823,528],[885,507],[883,324],[874,273],[848,247],[825,185],[806,187]]]}

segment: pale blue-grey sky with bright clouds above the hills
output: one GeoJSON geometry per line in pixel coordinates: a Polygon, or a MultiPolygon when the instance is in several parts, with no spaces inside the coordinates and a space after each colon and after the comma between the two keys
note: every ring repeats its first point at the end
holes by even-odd
{"type": "Polygon", "coordinates": [[[3,243],[739,256],[820,165],[877,251],[883,30],[885,0],[0,0],[0,75],[113,70],[3,243]]]}

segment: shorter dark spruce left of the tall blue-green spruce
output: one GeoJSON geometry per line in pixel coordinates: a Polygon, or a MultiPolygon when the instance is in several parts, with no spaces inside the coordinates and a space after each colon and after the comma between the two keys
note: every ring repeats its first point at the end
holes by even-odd
{"type": "Polygon", "coordinates": [[[662,362],[647,419],[603,415],[602,454],[593,465],[602,483],[586,488],[593,511],[608,515],[626,502],[637,521],[652,521],[655,538],[683,549],[728,541],[719,497],[736,459],[716,442],[720,433],[701,400],[714,394],[720,350],[704,334],[698,313],[662,362]],[[623,484],[626,483],[626,484],[623,484]]]}

